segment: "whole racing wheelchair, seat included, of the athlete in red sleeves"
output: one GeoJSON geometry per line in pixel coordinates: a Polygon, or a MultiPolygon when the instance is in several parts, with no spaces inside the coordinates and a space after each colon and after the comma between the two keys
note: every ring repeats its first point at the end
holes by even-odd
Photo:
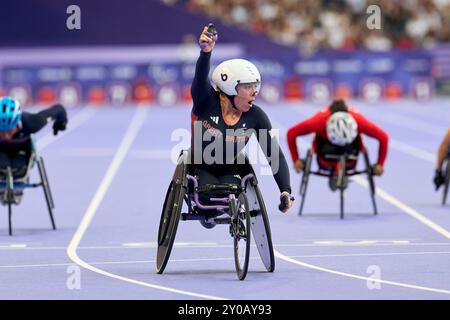
{"type": "Polygon", "coordinates": [[[300,184],[300,196],[302,199],[300,202],[299,215],[302,215],[303,212],[309,176],[316,175],[329,178],[329,185],[332,191],[339,190],[340,218],[344,219],[344,191],[348,187],[348,178],[350,176],[360,174],[365,174],[367,176],[373,212],[374,215],[378,214],[377,204],[375,201],[375,182],[373,179],[373,170],[370,165],[369,154],[364,147],[361,137],[355,139],[355,141],[347,147],[338,147],[331,145],[328,141],[316,136],[312,147],[307,152],[304,164],[300,184]],[[364,159],[364,170],[356,170],[359,154],[362,154],[364,159]],[[317,170],[311,169],[314,156],[317,158],[317,170]]]}

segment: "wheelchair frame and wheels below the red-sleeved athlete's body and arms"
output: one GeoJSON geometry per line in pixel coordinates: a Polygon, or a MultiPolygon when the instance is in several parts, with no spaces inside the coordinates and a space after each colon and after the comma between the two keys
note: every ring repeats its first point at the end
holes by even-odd
{"type": "MultiPolygon", "coordinates": [[[[377,204],[375,201],[375,182],[373,179],[373,170],[372,167],[370,165],[370,160],[369,160],[369,154],[367,153],[367,150],[362,147],[360,148],[360,150],[358,151],[358,153],[362,153],[364,156],[364,163],[365,163],[365,170],[359,171],[356,169],[346,169],[347,167],[347,161],[357,161],[358,160],[358,156],[357,155],[353,155],[353,154],[348,154],[348,153],[344,153],[342,155],[327,155],[327,159],[330,160],[337,160],[338,161],[338,165],[337,165],[337,175],[336,175],[336,189],[339,190],[340,193],[340,218],[344,219],[344,191],[347,188],[347,184],[345,183],[345,179],[347,177],[350,176],[354,176],[354,175],[359,175],[359,174],[366,174],[367,175],[367,180],[369,182],[369,191],[370,191],[370,197],[372,200],[372,206],[373,206],[373,211],[374,211],[374,215],[378,214],[378,210],[377,210],[377,204]],[[342,168],[344,168],[344,170],[342,170],[342,168]]],[[[308,188],[308,181],[309,181],[309,176],[311,174],[313,175],[317,175],[317,176],[322,176],[322,177],[328,177],[331,178],[334,175],[334,171],[333,170],[327,170],[327,169],[323,169],[320,168],[319,166],[319,170],[317,171],[312,171],[311,170],[311,165],[312,165],[312,159],[313,159],[313,155],[315,154],[313,148],[309,149],[307,152],[307,156],[306,156],[306,160],[305,160],[305,168],[303,170],[303,175],[302,175],[302,180],[301,180],[301,184],[300,184],[300,196],[302,198],[301,203],[300,203],[300,209],[299,209],[299,215],[301,216],[303,213],[303,206],[305,204],[305,198],[306,198],[306,191],[308,188]]]]}

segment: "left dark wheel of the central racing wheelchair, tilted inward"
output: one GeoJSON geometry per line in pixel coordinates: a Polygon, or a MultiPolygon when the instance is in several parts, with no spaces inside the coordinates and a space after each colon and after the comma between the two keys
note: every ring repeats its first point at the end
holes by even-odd
{"type": "Polygon", "coordinates": [[[185,173],[185,164],[179,160],[166,192],[159,222],[156,256],[156,272],[159,274],[166,268],[175,241],[185,194],[185,173]]]}

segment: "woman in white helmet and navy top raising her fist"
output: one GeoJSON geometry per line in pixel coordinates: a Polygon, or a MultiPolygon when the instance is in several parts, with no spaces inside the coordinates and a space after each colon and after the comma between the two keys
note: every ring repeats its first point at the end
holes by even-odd
{"type": "Polygon", "coordinates": [[[280,189],[279,209],[287,212],[293,200],[287,162],[276,139],[271,137],[269,118],[253,103],[261,85],[259,71],[247,60],[227,60],[214,70],[211,86],[208,74],[216,40],[217,34],[205,27],[199,38],[201,52],[191,87],[191,151],[199,185],[240,184],[243,165],[235,164],[235,160],[255,133],[280,189]],[[200,135],[201,142],[195,143],[200,135]],[[221,151],[211,151],[213,145],[221,147],[221,151]],[[204,154],[212,159],[205,159],[204,154]]]}

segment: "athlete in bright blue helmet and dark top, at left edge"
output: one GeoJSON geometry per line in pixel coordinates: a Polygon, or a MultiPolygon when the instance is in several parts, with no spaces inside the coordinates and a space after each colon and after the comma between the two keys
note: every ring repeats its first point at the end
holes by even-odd
{"type": "Polygon", "coordinates": [[[14,176],[26,171],[31,150],[23,149],[30,135],[53,121],[53,133],[66,129],[67,113],[60,104],[36,114],[23,112],[19,102],[11,97],[0,97],[0,172],[10,167],[14,176]]]}

